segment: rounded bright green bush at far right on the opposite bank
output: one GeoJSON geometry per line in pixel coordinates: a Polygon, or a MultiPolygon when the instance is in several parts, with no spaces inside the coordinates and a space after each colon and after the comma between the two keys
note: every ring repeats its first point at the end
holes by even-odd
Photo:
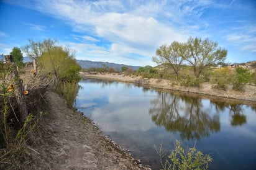
{"type": "Polygon", "coordinates": [[[244,85],[250,82],[252,75],[249,73],[249,70],[245,68],[237,68],[235,69],[235,73],[233,89],[235,91],[244,91],[244,85]]]}

